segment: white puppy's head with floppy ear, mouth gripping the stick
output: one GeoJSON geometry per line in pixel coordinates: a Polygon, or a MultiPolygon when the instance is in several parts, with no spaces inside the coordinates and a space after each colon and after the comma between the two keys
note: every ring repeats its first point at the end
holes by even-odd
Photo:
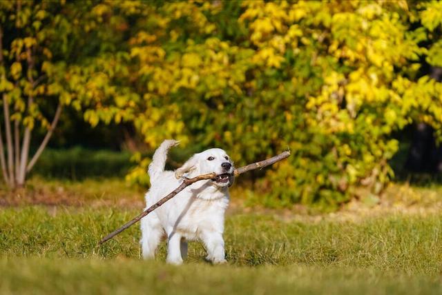
{"type": "Polygon", "coordinates": [[[175,177],[180,179],[184,174],[194,177],[200,174],[215,172],[217,176],[211,181],[218,187],[233,184],[233,161],[224,150],[212,148],[199,154],[194,154],[182,167],[175,170],[175,177]]]}

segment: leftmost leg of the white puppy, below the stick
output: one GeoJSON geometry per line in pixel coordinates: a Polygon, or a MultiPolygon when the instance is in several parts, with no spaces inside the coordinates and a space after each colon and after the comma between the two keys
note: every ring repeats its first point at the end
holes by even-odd
{"type": "Polygon", "coordinates": [[[141,220],[141,247],[144,259],[154,258],[164,230],[160,220],[152,213],[141,220]]]}

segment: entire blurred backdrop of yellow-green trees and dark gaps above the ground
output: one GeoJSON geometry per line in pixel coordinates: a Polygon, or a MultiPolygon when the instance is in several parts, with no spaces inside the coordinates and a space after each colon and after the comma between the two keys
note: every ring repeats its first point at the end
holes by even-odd
{"type": "MultiPolygon", "coordinates": [[[[116,167],[142,185],[167,138],[182,141],[177,162],[289,148],[249,175],[258,201],[332,209],[380,194],[392,166],[442,171],[440,1],[17,0],[0,13],[3,143],[9,120],[35,152],[63,106],[41,174],[64,174],[57,149],[76,145],[122,151],[116,167]]],[[[87,175],[93,155],[71,153],[87,175]]]]}

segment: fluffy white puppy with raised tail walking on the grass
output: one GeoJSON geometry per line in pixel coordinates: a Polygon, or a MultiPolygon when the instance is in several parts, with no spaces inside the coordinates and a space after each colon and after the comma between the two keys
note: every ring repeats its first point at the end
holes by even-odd
{"type": "Polygon", "coordinates": [[[224,150],[213,148],[194,154],[182,167],[164,171],[167,152],[177,145],[166,140],[157,148],[148,174],[151,189],[146,193],[150,207],[182,183],[182,177],[215,172],[215,179],[198,181],[186,187],[173,199],[158,207],[141,221],[141,245],[144,258],[153,258],[157,245],[166,234],[167,262],[181,264],[187,256],[186,241],[199,239],[206,246],[206,258],[212,263],[225,263],[224,212],[229,205],[228,188],[233,183],[233,162],[224,150]]]}

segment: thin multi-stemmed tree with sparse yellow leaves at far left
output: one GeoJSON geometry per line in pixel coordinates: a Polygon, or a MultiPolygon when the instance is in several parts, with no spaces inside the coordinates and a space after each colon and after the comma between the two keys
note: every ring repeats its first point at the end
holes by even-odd
{"type": "Polygon", "coordinates": [[[79,108],[64,88],[66,61],[75,61],[69,58],[72,8],[62,2],[0,2],[0,164],[8,187],[24,185],[64,105],[79,108]],[[30,156],[35,128],[45,129],[46,136],[30,156]]]}

